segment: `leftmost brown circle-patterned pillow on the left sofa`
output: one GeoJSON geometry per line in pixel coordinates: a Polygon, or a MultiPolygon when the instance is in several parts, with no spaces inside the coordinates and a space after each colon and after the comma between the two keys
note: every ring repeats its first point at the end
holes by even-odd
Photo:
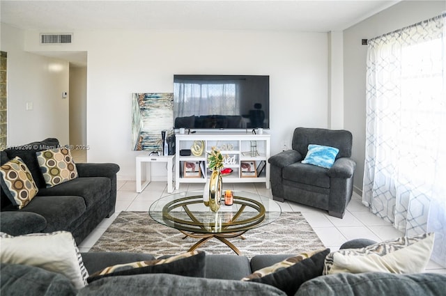
{"type": "Polygon", "coordinates": [[[14,157],[0,167],[1,187],[10,201],[22,209],[38,192],[31,172],[20,157],[14,157]]]}

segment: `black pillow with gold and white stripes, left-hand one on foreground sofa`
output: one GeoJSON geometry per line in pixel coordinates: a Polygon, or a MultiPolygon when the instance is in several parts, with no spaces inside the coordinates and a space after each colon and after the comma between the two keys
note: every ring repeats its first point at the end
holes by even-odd
{"type": "Polygon", "coordinates": [[[112,265],[91,274],[88,282],[102,279],[105,276],[121,276],[131,274],[166,273],[182,276],[204,277],[205,253],[203,251],[189,251],[187,253],[171,256],[166,259],[150,261],[137,261],[132,263],[112,265]]]}

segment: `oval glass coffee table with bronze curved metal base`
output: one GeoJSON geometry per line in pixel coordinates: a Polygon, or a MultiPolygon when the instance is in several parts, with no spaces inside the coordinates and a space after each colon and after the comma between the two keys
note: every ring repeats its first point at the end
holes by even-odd
{"type": "Polygon", "coordinates": [[[238,236],[245,239],[243,233],[275,221],[281,212],[277,202],[249,192],[234,192],[233,205],[224,205],[222,201],[220,210],[212,212],[204,205],[203,192],[200,191],[164,196],[148,210],[158,223],[177,229],[185,237],[199,239],[189,251],[216,238],[238,255],[240,250],[227,239],[238,236]]]}

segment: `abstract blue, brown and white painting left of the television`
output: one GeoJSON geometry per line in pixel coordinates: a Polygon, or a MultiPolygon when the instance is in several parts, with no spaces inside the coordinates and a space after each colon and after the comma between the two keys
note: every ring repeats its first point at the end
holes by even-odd
{"type": "Polygon", "coordinates": [[[174,126],[173,93],[132,94],[133,150],[162,151],[162,130],[167,137],[174,126]]]}

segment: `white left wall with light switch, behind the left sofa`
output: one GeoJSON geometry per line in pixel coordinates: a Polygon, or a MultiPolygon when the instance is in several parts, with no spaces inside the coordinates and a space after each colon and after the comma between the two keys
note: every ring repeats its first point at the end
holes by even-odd
{"type": "Polygon", "coordinates": [[[24,33],[5,24],[0,44],[8,52],[8,145],[48,137],[68,143],[68,62],[24,52],[24,33]]]}

